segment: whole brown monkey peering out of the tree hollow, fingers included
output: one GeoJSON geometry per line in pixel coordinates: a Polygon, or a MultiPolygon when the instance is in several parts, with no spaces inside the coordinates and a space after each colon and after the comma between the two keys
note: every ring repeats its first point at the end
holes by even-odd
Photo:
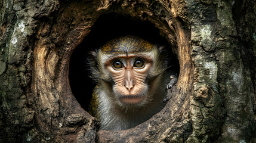
{"type": "Polygon", "coordinates": [[[100,120],[100,129],[134,128],[161,111],[171,98],[166,89],[178,77],[167,71],[162,47],[128,35],[107,42],[91,55],[91,77],[97,85],[89,113],[100,120]]]}

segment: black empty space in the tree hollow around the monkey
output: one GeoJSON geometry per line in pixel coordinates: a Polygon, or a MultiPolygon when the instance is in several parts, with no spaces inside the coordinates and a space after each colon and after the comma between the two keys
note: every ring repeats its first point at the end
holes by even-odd
{"type": "Polygon", "coordinates": [[[88,111],[92,91],[96,85],[89,77],[88,53],[100,48],[113,38],[125,35],[134,35],[158,45],[166,45],[169,60],[171,60],[168,66],[171,66],[171,69],[178,73],[180,68],[178,60],[172,54],[168,41],[159,34],[159,29],[154,24],[115,13],[103,14],[97,19],[94,26],[91,27],[89,35],[76,47],[70,57],[70,87],[84,110],[88,111]]]}

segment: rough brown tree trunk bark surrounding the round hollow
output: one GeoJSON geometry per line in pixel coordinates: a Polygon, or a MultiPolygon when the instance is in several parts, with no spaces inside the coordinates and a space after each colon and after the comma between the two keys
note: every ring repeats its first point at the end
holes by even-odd
{"type": "Polygon", "coordinates": [[[0,142],[256,142],[256,1],[1,1],[0,142]],[[180,62],[172,99],[98,130],[73,97],[72,51],[104,13],[149,20],[180,62]]]}

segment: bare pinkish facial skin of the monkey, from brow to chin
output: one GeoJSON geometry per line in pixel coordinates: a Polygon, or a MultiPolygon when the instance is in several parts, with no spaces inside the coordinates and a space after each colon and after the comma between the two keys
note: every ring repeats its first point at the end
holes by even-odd
{"type": "Polygon", "coordinates": [[[147,75],[153,59],[135,55],[122,55],[105,63],[112,76],[115,98],[125,104],[139,104],[147,98],[147,75]]]}

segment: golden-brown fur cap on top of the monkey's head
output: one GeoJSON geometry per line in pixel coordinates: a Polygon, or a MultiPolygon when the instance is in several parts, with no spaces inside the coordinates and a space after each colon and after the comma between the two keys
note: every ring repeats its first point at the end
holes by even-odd
{"type": "Polygon", "coordinates": [[[106,54],[128,54],[151,51],[155,45],[135,36],[124,36],[113,39],[101,47],[106,54]]]}

